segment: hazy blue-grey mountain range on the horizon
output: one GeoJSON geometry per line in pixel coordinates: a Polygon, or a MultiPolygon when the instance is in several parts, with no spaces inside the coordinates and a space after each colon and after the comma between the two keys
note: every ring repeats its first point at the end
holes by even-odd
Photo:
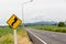
{"type": "Polygon", "coordinates": [[[34,22],[34,23],[25,23],[24,25],[55,25],[57,22],[55,21],[40,21],[40,22],[34,22]]]}

